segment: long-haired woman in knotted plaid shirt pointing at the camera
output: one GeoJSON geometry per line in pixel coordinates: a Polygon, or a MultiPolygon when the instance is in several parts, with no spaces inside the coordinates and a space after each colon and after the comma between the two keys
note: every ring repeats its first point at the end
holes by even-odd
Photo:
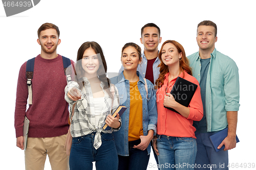
{"type": "Polygon", "coordinates": [[[106,77],[106,62],[100,45],[83,43],[77,53],[76,81],[66,87],[65,100],[70,105],[70,169],[117,169],[118,156],[113,131],[121,127],[119,115],[111,116],[119,106],[118,90],[106,77]],[[74,115],[72,108],[75,104],[74,115]],[[107,124],[110,130],[103,130],[107,124]]]}

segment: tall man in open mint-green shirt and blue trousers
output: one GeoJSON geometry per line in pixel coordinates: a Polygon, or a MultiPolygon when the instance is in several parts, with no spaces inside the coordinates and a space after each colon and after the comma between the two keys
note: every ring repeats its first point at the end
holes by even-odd
{"type": "MultiPolygon", "coordinates": [[[[193,76],[200,82],[204,115],[194,122],[197,137],[197,168],[212,165],[212,169],[228,169],[228,151],[236,147],[236,129],[239,110],[239,74],[236,63],[215,48],[217,26],[205,20],[198,24],[199,52],[188,56],[193,76]],[[225,149],[216,152],[209,136],[228,128],[228,135],[219,145],[225,149]],[[225,165],[221,168],[219,165],[225,165]],[[217,167],[215,166],[217,165],[217,167]]],[[[203,168],[209,169],[209,168],[203,168]]]]}

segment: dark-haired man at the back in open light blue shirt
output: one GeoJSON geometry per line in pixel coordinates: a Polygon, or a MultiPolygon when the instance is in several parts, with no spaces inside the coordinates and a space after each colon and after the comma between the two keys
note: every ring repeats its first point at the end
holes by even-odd
{"type": "MultiPolygon", "coordinates": [[[[150,80],[155,84],[159,76],[160,60],[158,59],[158,44],[161,43],[160,28],[155,23],[147,23],[141,28],[140,42],[144,46],[141,64],[137,70],[143,78],[150,80]]],[[[123,66],[119,70],[119,74],[123,71],[123,66]]]]}

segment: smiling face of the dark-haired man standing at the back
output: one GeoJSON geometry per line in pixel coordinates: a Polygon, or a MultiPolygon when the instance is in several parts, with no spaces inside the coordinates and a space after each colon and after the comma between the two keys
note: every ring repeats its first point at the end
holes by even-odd
{"type": "Polygon", "coordinates": [[[144,50],[153,52],[158,50],[158,44],[161,43],[162,38],[156,27],[145,27],[142,32],[140,42],[144,45],[144,50]]]}

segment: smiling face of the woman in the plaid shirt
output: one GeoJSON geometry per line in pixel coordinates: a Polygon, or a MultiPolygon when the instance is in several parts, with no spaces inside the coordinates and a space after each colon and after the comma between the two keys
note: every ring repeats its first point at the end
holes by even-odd
{"type": "Polygon", "coordinates": [[[85,71],[84,77],[92,78],[97,77],[97,70],[99,69],[98,56],[93,48],[87,48],[82,57],[82,68],[85,71]]]}

